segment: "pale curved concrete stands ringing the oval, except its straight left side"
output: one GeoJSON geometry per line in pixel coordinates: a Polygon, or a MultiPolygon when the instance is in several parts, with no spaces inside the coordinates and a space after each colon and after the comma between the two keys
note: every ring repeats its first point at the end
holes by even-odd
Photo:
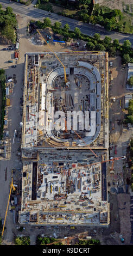
{"type": "MultiPolygon", "coordinates": [[[[96,112],[96,131],[93,136],[88,136],[89,133],[92,133],[91,131],[86,132],[86,137],[84,138],[85,143],[90,144],[98,137],[100,132],[101,78],[97,68],[92,64],[84,61],[79,61],[78,66],[74,68],[74,75],[78,74],[86,76],[90,81],[90,89],[92,90],[92,93],[90,93],[90,113],[91,111],[96,112]]],[[[64,75],[64,68],[57,68],[53,70],[47,78],[47,89],[49,87],[52,88],[55,78],[61,75],[64,75]]],[[[66,68],[66,75],[69,75],[69,68],[66,68]]],[[[92,124],[90,124],[90,126],[91,125],[92,124]]],[[[58,143],[69,141],[69,139],[64,140],[55,137],[50,127],[49,129],[47,129],[47,136],[58,143]]],[[[77,139],[75,139],[74,141],[77,142],[77,139]]],[[[79,139],[79,146],[83,145],[83,141],[79,139]]]]}

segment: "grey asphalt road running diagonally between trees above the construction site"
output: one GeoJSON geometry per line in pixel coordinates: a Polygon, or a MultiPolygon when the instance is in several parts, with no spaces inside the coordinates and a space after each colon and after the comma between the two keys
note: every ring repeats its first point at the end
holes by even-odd
{"type": "Polygon", "coordinates": [[[50,13],[48,11],[44,11],[41,9],[34,8],[34,4],[36,3],[36,0],[33,1],[32,4],[26,6],[20,3],[11,2],[9,0],[1,0],[0,4],[2,4],[3,8],[6,8],[10,6],[15,14],[19,14],[20,16],[29,17],[30,19],[37,19],[37,20],[43,20],[46,17],[49,17],[52,23],[55,21],[60,21],[62,23],[62,26],[64,26],[66,23],[69,24],[70,29],[74,29],[75,27],[80,28],[80,31],[86,35],[93,35],[94,33],[99,33],[102,38],[104,38],[106,35],[110,36],[112,40],[118,39],[119,42],[123,43],[124,40],[129,39],[131,44],[133,45],[133,35],[130,34],[122,34],[117,32],[107,32],[104,28],[100,26],[94,26],[94,25],[88,25],[86,23],[83,23],[81,21],[69,19],[64,16],[60,16],[57,14],[50,13]]]}

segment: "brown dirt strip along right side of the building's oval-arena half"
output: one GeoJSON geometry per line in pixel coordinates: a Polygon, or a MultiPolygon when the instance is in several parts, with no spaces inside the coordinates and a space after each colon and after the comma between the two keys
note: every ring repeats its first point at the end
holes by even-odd
{"type": "Polygon", "coordinates": [[[122,125],[120,121],[124,117],[124,96],[129,94],[125,88],[126,77],[128,68],[122,69],[121,57],[109,58],[113,62],[111,77],[113,78],[112,84],[109,85],[109,128],[111,130],[111,124],[115,123],[115,130],[111,130],[110,142],[117,143],[118,138],[122,135],[122,125]],[[115,97],[116,102],[113,103],[112,99],[115,97]],[[122,105],[121,105],[122,102],[122,105]],[[112,123],[111,123],[112,122],[112,123]]]}

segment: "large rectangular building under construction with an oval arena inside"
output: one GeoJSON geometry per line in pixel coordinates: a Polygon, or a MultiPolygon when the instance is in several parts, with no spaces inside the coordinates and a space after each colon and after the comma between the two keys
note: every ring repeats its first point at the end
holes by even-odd
{"type": "Polygon", "coordinates": [[[25,64],[19,222],[108,225],[107,53],[27,53],[25,64]]]}

